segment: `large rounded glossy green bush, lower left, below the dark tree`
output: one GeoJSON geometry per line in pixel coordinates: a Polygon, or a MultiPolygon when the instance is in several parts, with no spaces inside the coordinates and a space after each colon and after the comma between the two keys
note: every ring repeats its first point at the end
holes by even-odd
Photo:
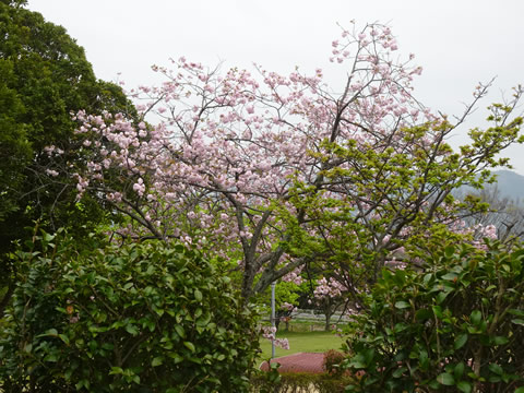
{"type": "Polygon", "coordinates": [[[198,252],[155,242],[85,255],[47,234],[32,247],[17,253],[0,342],[5,392],[247,390],[253,314],[198,252]]]}

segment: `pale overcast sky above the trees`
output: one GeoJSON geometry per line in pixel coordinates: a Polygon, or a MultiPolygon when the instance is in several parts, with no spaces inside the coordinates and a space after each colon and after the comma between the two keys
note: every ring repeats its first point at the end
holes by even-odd
{"type": "MultiPolygon", "coordinates": [[[[352,20],[392,27],[398,53],[415,53],[424,68],[415,96],[436,110],[460,115],[478,82],[497,76],[468,127],[483,126],[485,107],[524,84],[522,0],[29,0],[28,8],[64,26],[98,78],[128,88],[155,83],[151,66],[180,56],[209,66],[255,62],[281,73],[322,68],[330,79],[337,23],[348,27],[352,20]]],[[[466,131],[452,144],[465,141],[466,131]]],[[[524,175],[524,146],[507,155],[524,175]]]]}

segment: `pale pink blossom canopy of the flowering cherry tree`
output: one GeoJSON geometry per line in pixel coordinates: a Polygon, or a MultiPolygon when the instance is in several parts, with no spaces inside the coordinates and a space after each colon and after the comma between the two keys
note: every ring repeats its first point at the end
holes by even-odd
{"type": "MultiPolygon", "coordinates": [[[[311,75],[281,75],[259,66],[254,72],[221,72],[184,58],[172,61],[174,70],[155,66],[165,82],[130,92],[143,121],[80,111],[74,117],[76,138],[86,160],[61,169],[76,179],[79,196],[91,191],[132,217],[130,226],[116,228],[122,236],[177,237],[236,258],[246,272],[273,274],[271,281],[260,282],[300,284],[301,265],[275,247],[287,230],[278,212],[286,211],[286,219],[312,237],[319,235],[289,191],[297,183],[323,184],[319,180],[330,166],[350,169],[348,162],[337,164],[326,141],[354,143],[362,151],[388,141],[395,151],[409,154],[437,138],[437,131],[428,132],[413,145],[398,132],[437,120],[412,96],[412,82],[421,68],[412,66],[413,56],[393,56],[396,49],[388,26],[343,29],[332,44],[335,64],[348,64],[340,93],[325,85],[321,69],[311,75]]],[[[50,156],[59,153],[48,148],[50,156]]],[[[326,200],[353,203],[344,186],[321,191],[326,200]]],[[[359,203],[361,209],[381,205],[359,203]]],[[[341,209],[347,207],[332,204],[323,211],[341,209]]],[[[380,218],[369,210],[366,219],[380,218]]],[[[340,229],[343,224],[331,225],[340,229]]],[[[321,282],[317,295],[338,296],[346,289],[335,282],[324,288],[321,282]]]]}

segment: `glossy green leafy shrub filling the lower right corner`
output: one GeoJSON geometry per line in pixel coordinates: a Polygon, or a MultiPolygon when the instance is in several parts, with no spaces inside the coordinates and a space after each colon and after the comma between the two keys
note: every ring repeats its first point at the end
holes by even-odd
{"type": "Polygon", "coordinates": [[[364,374],[349,390],[524,392],[523,261],[495,242],[384,271],[347,342],[345,366],[364,374]]]}

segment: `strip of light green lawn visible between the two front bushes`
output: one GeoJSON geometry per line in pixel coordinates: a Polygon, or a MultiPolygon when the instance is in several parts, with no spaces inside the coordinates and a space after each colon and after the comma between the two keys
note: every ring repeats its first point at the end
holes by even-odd
{"type": "MultiPolygon", "coordinates": [[[[275,347],[275,357],[293,355],[300,352],[324,353],[329,349],[340,349],[343,340],[332,332],[277,332],[278,338],[289,341],[289,349],[275,347]]],[[[271,342],[260,338],[261,359],[271,357],[271,342]]]]}

